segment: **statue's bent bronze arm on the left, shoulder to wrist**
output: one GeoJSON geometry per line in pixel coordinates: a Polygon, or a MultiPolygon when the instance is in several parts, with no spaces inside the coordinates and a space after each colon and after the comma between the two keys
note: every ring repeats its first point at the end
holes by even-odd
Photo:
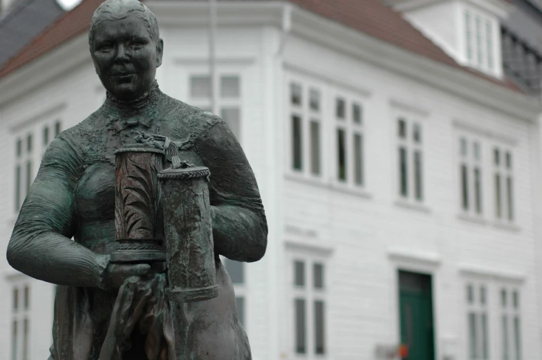
{"type": "Polygon", "coordinates": [[[71,240],[79,158],[62,138],[48,146],[8,245],[12,267],[49,283],[100,286],[106,256],[71,240]]]}

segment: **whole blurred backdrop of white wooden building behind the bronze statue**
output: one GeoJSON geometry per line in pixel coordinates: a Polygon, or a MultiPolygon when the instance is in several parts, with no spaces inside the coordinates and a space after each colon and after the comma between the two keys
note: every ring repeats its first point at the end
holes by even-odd
{"type": "MultiPolygon", "coordinates": [[[[2,2],[0,249],[104,102],[100,2],[2,2]]],[[[254,359],[542,358],[538,1],[221,0],[213,78],[209,2],[145,3],[162,91],[210,109],[214,86],[259,181],[268,252],[225,259],[254,359]]],[[[48,356],[54,296],[0,256],[0,359],[48,356]]]]}

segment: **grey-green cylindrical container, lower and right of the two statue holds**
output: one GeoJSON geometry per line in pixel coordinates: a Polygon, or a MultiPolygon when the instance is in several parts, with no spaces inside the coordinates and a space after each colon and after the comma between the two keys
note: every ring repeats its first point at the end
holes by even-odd
{"type": "Polygon", "coordinates": [[[171,301],[190,303],[218,296],[208,176],[206,167],[158,174],[171,301]]]}

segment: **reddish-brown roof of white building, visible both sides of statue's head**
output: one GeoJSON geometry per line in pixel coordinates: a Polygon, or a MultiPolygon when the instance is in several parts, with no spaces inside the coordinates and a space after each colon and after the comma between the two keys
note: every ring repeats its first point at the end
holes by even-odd
{"type": "MultiPolygon", "coordinates": [[[[28,64],[37,57],[44,55],[60,44],[73,39],[88,31],[94,10],[103,0],[83,0],[79,6],[68,12],[53,26],[48,28],[39,37],[28,44],[17,57],[14,57],[0,69],[0,78],[11,73],[13,70],[28,64]]],[[[183,0],[174,0],[183,1],[183,0]]],[[[200,0],[205,1],[205,0],[200,0]]],[[[222,0],[231,1],[231,0],[222,0]]],[[[258,0],[252,0],[258,1],[258,0]]],[[[449,57],[441,48],[433,44],[427,37],[416,30],[411,24],[402,18],[399,12],[385,6],[380,0],[288,0],[301,8],[314,12],[327,19],[337,21],[345,26],[371,35],[382,41],[409,50],[412,53],[422,55],[434,61],[448,66],[462,69],[472,75],[483,77],[489,82],[499,84],[514,91],[519,88],[505,80],[483,75],[477,71],[460,66],[454,59],[449,57]]]]}

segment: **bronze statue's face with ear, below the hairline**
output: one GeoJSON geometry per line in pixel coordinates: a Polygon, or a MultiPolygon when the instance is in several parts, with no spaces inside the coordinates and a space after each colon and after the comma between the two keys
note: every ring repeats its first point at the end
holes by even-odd
{"type": "Polygon", "coordinates": [[[94,28],[91,55],[102,84],[118,100],[136,100],[151,88],[162,64],[162,39],[156,44],[144,22],[129,16],[94,28]]]}

